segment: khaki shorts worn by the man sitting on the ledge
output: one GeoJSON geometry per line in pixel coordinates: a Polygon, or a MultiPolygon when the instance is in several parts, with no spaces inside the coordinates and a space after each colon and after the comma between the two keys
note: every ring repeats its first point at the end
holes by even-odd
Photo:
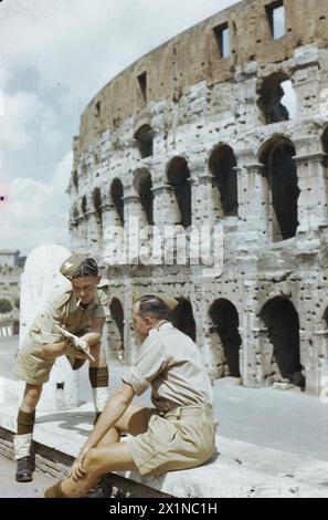
{"type": "Polygon", "coordinates": [[[147,431],[127,441],[129,454],[142,477],[194,468],[212,457],[216,430],[212,407],[177,408],[180,409],[180,418],[171,413],[160,416],[154,409],[149,414],[147,431]]]}

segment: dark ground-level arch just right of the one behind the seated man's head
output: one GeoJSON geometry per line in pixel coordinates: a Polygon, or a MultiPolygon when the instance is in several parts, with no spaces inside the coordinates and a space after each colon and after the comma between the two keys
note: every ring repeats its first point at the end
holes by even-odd
{"type": "Polygon", "coordinates": [[[239,313],[229,300],[215,300],[209,311],[212,321],[211,332],[220,337],[224,361],[228,365],[229,375],[241,377],[240,372],[240,346],[242,339],[239,332],[239,313]]]}

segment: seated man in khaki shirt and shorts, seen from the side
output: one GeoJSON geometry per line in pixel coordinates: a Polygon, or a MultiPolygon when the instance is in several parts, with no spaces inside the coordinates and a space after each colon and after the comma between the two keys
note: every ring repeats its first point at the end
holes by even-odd
{"type": "Polygon", "coordinates": [[[171,311],[159,297],[140,298],[133,318],[142,341],[139,358],[106,404],[70,476],[49,488],[46,498],[83,497],[109,471],[150,477],[212,457],[212,392],[198,347],[173,327],[171,311]],[[155,408],[131,404],[149,386],[155,408]],[[127,433],[135,437],[120,443],[127,433]]]}

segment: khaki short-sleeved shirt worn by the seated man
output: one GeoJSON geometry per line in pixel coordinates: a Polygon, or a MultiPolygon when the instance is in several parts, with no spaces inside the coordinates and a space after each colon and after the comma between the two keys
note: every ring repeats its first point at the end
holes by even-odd
{"type": "Polygon", "coordinates": [[[158,412],[212,404],[210,378],[197,345],[171,323],[149,332],[136,365],[123,381],[136,395],[151,386],[151,401],[158,412]]]}

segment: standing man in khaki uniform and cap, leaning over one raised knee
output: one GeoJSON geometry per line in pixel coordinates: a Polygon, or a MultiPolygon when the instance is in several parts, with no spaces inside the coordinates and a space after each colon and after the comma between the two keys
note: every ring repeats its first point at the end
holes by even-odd
{"type": "Polygon", "coordinates": [[[98,267],[92,258],[73,254],[62,264],[60,271],[71,281],[72,288],[56,290],[50,295],[44,311],[36,315],[30,326],[14,367],[15,375],[25,382],[14,437],[18,460],[15,479],[19,482],[32,480],[34,464],[31,446],[35,408],[42,385],[49,381],[54,362],[65,354],[75,371],[87,358],[86,354],[74,349],[62,335],[56,324],[84,340],[86,351],[95,360],[89,362],[88,373],[96,418],[108,398],[108,368],[100,345],[108,297],[106,288],[98,285],[98,267]]]}

